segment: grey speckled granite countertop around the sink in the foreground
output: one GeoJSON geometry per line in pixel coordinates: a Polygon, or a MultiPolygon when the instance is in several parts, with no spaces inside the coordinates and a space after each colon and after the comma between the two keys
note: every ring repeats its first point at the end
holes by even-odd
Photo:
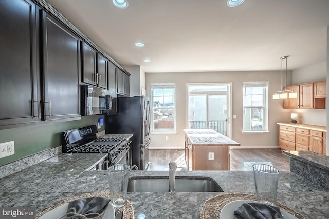
{"type": "MultiPolygon", "coordinates": [[[[72,195],[109,192],[107,171],[86,171],[105,154],[60,154],[0,179],[0,207],[36,207],[36,213],[72,195]]],[[[176,171],[181,176],[213,178],[227,192],[254,194],[252,171],[176,171]]],[[[168,176],[168,171],[132,171],[130,177],[168,176]]],[[[223,192],[129,192],[135,218],[199,218],[208,198],[223,192]]],[[[278,202],[305,218],[328,218],[329,191],[297,174],[280,172],[278,202]]]]}

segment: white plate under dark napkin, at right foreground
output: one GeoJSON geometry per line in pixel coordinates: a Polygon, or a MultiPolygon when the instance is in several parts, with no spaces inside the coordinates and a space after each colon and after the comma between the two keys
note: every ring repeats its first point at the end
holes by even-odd
{"type": "MultiPolygon", "coordinates": [[[[253,200],[236,200],[230,203],[227,203],[221,211],[221,218],[225,218],[225,219],[236,219],[236,217],[234,216],[234,210],[239,207],[241,204],[246,203],[246,202],[256,202],[253,200]]],[[[296,219],[297,217],[295,217],[293,214],[290,214],[282,209],[280,209],[282,217],[284,219],[296,219]]]]}

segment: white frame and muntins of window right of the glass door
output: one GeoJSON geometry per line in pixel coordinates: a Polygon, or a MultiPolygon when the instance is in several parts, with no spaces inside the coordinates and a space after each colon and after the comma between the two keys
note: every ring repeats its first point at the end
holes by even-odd
{"type": "MultiPolygon", "coordinates": [[[[263,82],[243,82],[243,92],[242,92],[242,97],[243,97],[243,102],[242,102],[242,132],[243,133],[261,133],[261,132],[265,132],[268,133],[268,81],[263,81],[263,82]],[[262,96],[263,96],[263,101],[262,101],[262,106],[253,106],[252,105],[252,96],[256,96],[256,95],[260,95],[260,94],[244,94],[245,88],[247,87],[262,87],[263,88],[263,92],[262,92],[262,96]],[[251,96],[251,105],[245,105],[244,103],[244,98],[246,98],[246,96],[251,96]],[[246,109],[254,109],[254,108],[262,108],[263,109],[263,121],[262,121],[262,129],[258,130],[258,129],[250,129],[250,130],[245,130],[244,129],[244,124],[245,124],[245,117],[247,115],[246,113],[246,109]]],[[[251,91],[252,92],[252,91],[251,91]]],[[[251,123],[251,121],[250,121],[251,123]]],[[[251,124],[249,124],[251,127],[251,124]]]]}

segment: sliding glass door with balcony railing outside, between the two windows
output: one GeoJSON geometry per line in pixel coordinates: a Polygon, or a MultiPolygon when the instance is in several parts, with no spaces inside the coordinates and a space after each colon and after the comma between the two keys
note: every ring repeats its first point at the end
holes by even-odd
{"type": "Polygon", "coordinates": [[[232,83],[187,84],[188,128],[213,129],[231,137],[232,83]]]}

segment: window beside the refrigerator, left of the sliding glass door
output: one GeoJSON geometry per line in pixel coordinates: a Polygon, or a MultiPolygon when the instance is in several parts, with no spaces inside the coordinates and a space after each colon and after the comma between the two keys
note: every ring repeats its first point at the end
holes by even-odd
{"type": "Polygon", "coordinates": [[[175,84],[151,84],[154,132],[175,132],[175,84]]]}

